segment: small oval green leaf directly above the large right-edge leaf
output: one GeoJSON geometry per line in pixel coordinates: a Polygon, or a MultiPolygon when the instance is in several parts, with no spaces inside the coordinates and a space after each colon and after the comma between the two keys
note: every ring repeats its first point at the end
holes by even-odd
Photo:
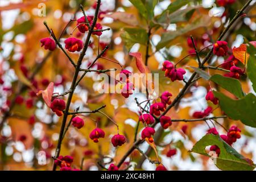
{"type": "Polygon", "coordinates": [[[220,85],[225,90],[228,90],[230,93],[234,94],[238,98],[245,96],[243,93],[242,86],[240,81],[234,78],[225,77],[222,75],[213,75],[210,77],[210,80],[220,85]]]}

